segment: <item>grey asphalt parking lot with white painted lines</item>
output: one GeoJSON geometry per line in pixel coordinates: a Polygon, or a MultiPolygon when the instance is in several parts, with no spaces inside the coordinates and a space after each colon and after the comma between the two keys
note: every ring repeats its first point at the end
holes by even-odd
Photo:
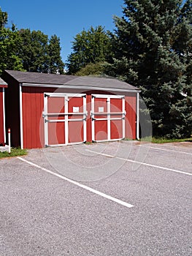
{"type": "Polygon", "coordinates": [[[191,143],[32,149],[0,160],[0,255],[192,255],[191,143]]]}

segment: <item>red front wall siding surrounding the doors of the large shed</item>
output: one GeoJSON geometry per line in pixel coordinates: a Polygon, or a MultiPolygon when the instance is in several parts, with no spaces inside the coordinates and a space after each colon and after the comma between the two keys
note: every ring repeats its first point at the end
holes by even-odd
{"type": "MultiPolygon", "coordinates": [[[[23,147],[44,147],[44,119],[42,111],[44,108],[44,92],[53,92],[55,89],[23,87],[23,147]]],[[[57,91],[58,92],[58,91],[57,91]]],[[[64,92],[64,91],[62,91],[64,92]]],[[[66,91],[65,91],[66,92],[66,91]]],[[[77,92],[77,91],[76,91],[77,92]]],[[[91,94],[102,93],[98,91],[87,92],[87,141],[91,142],[91,94]]],[[[108,94],[108,93],[107,93],[108,94]]],[[[126,138],[136,138],[136,94],[126,96],[126,138]]]]}

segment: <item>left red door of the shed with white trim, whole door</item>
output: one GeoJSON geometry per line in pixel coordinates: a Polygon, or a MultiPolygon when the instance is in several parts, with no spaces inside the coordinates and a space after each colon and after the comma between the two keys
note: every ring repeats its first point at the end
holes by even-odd
{"type": "Polygon", "coordinates": [[[86,141],[86,94],[44,94],[45,146],[86,141]]]}

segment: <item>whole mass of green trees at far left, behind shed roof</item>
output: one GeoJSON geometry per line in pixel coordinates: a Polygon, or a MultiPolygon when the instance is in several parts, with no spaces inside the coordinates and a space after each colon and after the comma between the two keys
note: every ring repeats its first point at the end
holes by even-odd
{"type": "Polygon", "coordinates": [[[49,39],[42,31],[18,30],[14,24],[6,28],[7,17],[0,8],[0,74],[4,69],[62,74],[60,39],[49,39]]]}

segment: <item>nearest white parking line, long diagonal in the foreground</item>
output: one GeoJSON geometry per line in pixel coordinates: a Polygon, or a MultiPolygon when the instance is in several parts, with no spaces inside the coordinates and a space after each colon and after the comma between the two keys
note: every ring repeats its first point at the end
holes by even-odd
{"type": "Polygon", "coordinates": [[[110,196],[110,195],[107,195],[107,194],[104,194],[104,193],[102,193],[102,192],[99,192],[99,191],[96,190],[96,189],[92,189],[91,187],[88,187],[88,186],[85,186],[85,185],[83,185],[83,184],[80,184],[79,182],[73,181],[73,180],[71,180],[70,178],[66,178],[65,176],[62,176],[61,174],[54,173],[53,171],[47,170],[46,168],[41,167],[41,166],[39,166],[39,165],[36,165],[36,164],[34,164],[33,162],[30,162],[30,161],[28,161],[28,160],[26,160],[26,159],[23,159],[22,157],[18,157],[18,159],[20,159],[20,160],[23,161],[23,162],[28,163],[28,165],[32,165],[32,166],[34,166],[34,167],[39,168],[40,170],[44,170],[45,172],[50,173],[50,174],[52,174],[53,176],[56,176],[56,177],[58,177],[58,178],[62,178],[64,181],[68,181],[68,182],[70,182],[70,183],[76,185],[77,187],[81,187],[82,189],[86,189],[86,190],[88,190],[89,192],[92,192],[92,193],[94,193],[94,194],[96,194],[96,195],[100,195],[101,197],[104,197],[104,198],[109,199],[109,200],[111,200],[111,201],[113,201],[113,202],[115,202],[115,203],[118,203],[118,204],[120,204],[121,206],[126,206],[126,207],[128,207],[128,208],[134,207],[134,206],[131,205],[130,203],[126,203],[126,202],[124,202],[124,201],[122,201],[122,200],[119,200],[119,199],[117,199],[117,198],[115,198],[115,197],[112,197],[112,196],[110,196]]]}

